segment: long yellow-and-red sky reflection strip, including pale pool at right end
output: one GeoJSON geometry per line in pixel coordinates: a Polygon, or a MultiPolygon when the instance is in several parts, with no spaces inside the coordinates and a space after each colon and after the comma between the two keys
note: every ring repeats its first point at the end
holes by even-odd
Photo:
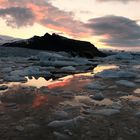
{"type": "Polygon", "coordinates": [[[35,79],[32,77],[32,79],[27,78],[26,83],[20,83],[20,82],[10,82],[8,84],[9,87],[13,87],[15,85],[23,85],[23,86],[35,86],[37,88],[41,88],[43,86],[48,87],[49,89],[58,88],[58,87],[67,87],[67,88],[82,88],[85,84],[89,83],[90,77],[92,77],[95,73],[102,72],[107,69],[118,69],[119,66],[109,64],[109,65],[98,65],[96,68],[94,68],[91,72],[85,72],[85,73],[78,73],[74,75],[68,75],[62,78],[59,78],[57,80],[46,80],[43,77],[39,77],[38,79],[35,79]]]}

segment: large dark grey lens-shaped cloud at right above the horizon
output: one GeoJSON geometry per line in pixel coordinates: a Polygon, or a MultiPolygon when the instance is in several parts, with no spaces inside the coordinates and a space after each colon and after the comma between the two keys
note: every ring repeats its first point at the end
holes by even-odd
{"type": "Polygon", "coordinates": [[[85,25],[92,35],[100,36],[100,42],[109,46],[140,46],[140,25],[136,21],[121,16],[104,16],[90,19],[85,25]]]}

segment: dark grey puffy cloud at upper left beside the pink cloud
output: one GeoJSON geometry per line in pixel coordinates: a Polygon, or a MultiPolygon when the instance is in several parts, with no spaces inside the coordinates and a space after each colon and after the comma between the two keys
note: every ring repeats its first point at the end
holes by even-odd
{"type": "Polygon", "coordinates": [[[22,27],[32,25],[35,16],[28,8],[9,7],[0,9],[0,17],[6,20],[7,25],[12,27],[22,27]]]}

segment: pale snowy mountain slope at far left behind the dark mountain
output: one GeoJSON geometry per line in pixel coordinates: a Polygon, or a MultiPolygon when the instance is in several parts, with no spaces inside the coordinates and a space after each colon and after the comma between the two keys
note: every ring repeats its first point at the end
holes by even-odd
{"type": "Polygon", "coordinates": [[[21,40],[19,38],[14,38],[14,37],[11,37],[11,36],[5,36],[5,35],[0,35],[0,45],[4,44],[4,43],[7,43],[7,42],[15,42],[15,41],[18,41],[18,40],[21,40]]]}

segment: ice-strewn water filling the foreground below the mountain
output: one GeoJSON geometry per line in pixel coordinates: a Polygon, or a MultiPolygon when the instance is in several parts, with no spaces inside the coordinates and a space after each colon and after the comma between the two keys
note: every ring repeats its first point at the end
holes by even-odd
{"type": "Polygon", "coordinates": [[[1,139],[139,140],[139,54],[14,52],[0,52],[1,139]]]}

